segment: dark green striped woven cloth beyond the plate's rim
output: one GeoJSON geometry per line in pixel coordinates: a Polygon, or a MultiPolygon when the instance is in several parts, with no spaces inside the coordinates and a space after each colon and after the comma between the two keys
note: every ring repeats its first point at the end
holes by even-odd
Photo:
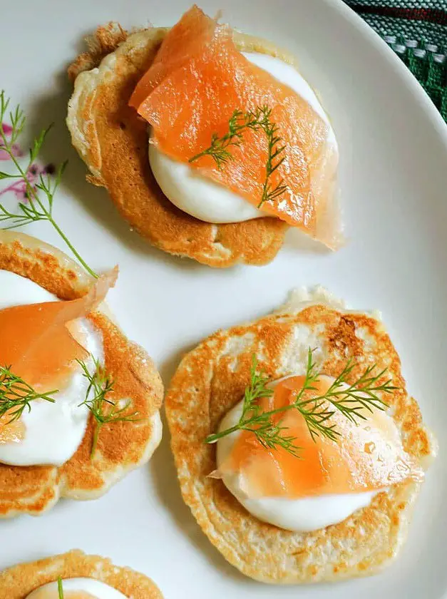
{"type": "Polygon", "coordinates": [[[447,122],[447,0],[345,0],[401,57],[447,122]]]}

